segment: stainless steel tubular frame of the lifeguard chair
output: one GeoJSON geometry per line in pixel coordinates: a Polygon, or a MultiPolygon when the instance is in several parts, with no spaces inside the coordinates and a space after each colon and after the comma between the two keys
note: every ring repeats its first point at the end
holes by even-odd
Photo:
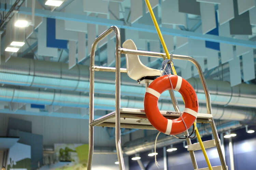
{"type": "MultiPolygon", "coordinates": [[[[140,51],[140,50],[130,50],[130,49],[125,49],[120,47],[120,32],[119,29],[116,26],[110,27],[108,30],[103,32],[99,37],[97,37],[91,47],[91,54],[90,54],[90,103],[89,103],[89,155],[88,155],[88,164],[87,164],[87,170],[91,169],[91,163],[92,163],[92,157],[93,157],[93,137],[94,137],[94,126],[97,126],[101,124],[101,126],[110,126],[113,127],[113,123],[106,123],[104,122],[105,120],[112,118],[115,116],[115,141],[116,141],[116,151],[117,151],[117,157],[119,161],[119,169],[124,170],[125,165],[124,165],[124,159],[123,159],[123,153],[122,153],[122,147],[121,147],[121,141],[120,141],[120,72],[127,72],[126,69],[120,69],[120,54],[138,54],[138,55],[143,55],[143,56],[150,56],[150,57],[160,57],[160,58],[166,58],[165,53],[158,53],[158,52],[150,52],[150,51],[140,51]],[[95,66],[95,49],[97,44],[99,43],[100,40],[102,40],[104,37],[109,35],[111,32],[115,32],[116,36],[116,67],[100,67],[100,66],[95,66]],[[108,71],[108,72],[115,72],[115,113],[110,113],[108,115],[102,116],[96,120],[94,120],[94,72],[95,71],[108,71]]],[[[207,113],[212,114],[212,108],[211,108],[211,99],[210,99],[210,94],[208,91],[207,84],[204,79],[204,75],[202,72],[202,69],[198,62],[189,56],[185,55],[175,55],[175,54],[170,54],[173,59],[177,60],[187,60],[193,63],[199,73],[199,77],[201,80],[201,83],[203,85],[204,93],[205,93],[205,98],[206,98],[206,104],[207,104],[207,113]]],[[[170,93],[171,98],[174,98],[172,94],[170,93]]],[[[174,102],[175,100],[172,100],[174,104],[174,108],[176,111],[178,111],[176,103],[174,102]]],[[[221,145],[218,142],[219,137],[217,134],[217,129],[215,127],[215,123],[213,118],[211,118],[211,121],[209,121],[211,124],[211,129],[213,131],[213,136],[214,140],[216,142],[216,147],[218,150],[219,158],[221,160],[222,168],[223,170],[227,170],[225,158],[223,157],[222,150],[221,150],[221,145]]],[[[123,127],[126,128],[134,128],[134,126],[130,126],[129,124],[123,125],[123,127]]],[[[136,126],[139,129],[153,129],[149,125],[137,125],[136,126]]],[[[187,134],[187,132],[185,132],[187,134]]],[[[190,140],[187,140],[187,143],[191,143],[190,140]]],[[[190,152],[191,160],[194,169],[197,169],[197,163],[195,159],[194,152],[190,152]]]]}

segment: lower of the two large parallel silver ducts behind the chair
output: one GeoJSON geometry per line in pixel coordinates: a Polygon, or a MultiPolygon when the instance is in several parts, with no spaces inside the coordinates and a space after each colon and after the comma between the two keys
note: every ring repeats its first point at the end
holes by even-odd
{"type": "MultiPolygon", "coordinates": [[[[0,101],[88,108],[89,96],[81,92],[67,93],[55,90],[46,91],[0,87],[0,101]]],[[[94,103],[96,109],[115,110],[114,97],[95,96],[94,103]]],[[[143,100],[138,98],[122,98],[121,107],[143,109],[144,104],[143,100]]],[[[160,110],[174,111],[173,105],[166,101],[159,101],[158,107],[160,110]]],[[[180,108],[182,111],[184,104],[180,104],[180,108]]],[[[206,107],[200,105],[199,113],[207,113],[206,107]]],[[[215,119],[242,121],[254,119],[256,111],[253,108],[213,106],[212,114],[215,119]]]]}

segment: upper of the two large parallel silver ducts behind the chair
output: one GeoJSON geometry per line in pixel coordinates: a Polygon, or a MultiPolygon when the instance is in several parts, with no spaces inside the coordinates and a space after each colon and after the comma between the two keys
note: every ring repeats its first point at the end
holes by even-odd
{"type": "MultiPolygon", "coordinates": [[[[16,86],[39,87],[60,90],[89,92],[89,67],[76,65],[68,69],[66,63],[32,60],[12,57],[0,65],[0,83],[16,86]]],[[[145,87],[122,74],[121,95],[144,97],[145,87]]],[[[95,94],[115,94],[115,76],[111,72],[96,72],[95,94]],[[105,83],[101,83],[105,82],[105,83]]],[[[199,103],[205,103],[205,96],[200,79],[191,78],[188,82],[197,92],[199,103]]],[[[240,84],[230,87],[228,82],[207,80],[212,104],[224,106],[256,107],[256,85],[240,84]]],[[[175,91],[178,101],[182,97],[175,91]]],[[[170,99],[168,92],[163,92],[160,99],[170,99]]]]}

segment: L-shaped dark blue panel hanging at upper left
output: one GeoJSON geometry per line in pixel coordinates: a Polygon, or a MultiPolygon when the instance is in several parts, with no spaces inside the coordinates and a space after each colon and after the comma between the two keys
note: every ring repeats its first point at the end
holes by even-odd
{"type": "Polygon", "coordinates": [[[46,47],[66,49],[68,47],[68,41],[55,38],[56,20],[47,18],[46,25],[46,47]]]}

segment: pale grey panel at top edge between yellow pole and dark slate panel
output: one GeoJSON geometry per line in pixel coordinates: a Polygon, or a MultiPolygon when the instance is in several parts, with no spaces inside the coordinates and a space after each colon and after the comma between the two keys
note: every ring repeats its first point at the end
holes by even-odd
{"type": "Polygon", "coordinates": [[[179,12],[178,0],[168,0],[161,4],[162,23],[186,27],[186,14],[179,12]]]}

